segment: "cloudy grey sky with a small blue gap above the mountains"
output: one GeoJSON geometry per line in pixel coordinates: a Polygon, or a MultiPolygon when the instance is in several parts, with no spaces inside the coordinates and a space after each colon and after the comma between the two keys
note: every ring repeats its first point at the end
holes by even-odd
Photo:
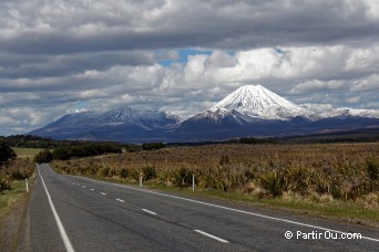
{"type": "Polygon", "coordinates": [[[0,1],[0,135],[82,109],[188,116],[245,84],[379,109],[379,1],[0,1]]]}

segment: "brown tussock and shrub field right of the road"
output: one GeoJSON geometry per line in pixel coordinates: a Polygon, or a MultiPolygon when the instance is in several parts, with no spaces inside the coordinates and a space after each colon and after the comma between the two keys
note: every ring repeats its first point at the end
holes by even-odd
{"type": "Polygon", "coordinates": [[[54,161],[63,174],[379,224],[379,143],[208,145],[54,161]]]}

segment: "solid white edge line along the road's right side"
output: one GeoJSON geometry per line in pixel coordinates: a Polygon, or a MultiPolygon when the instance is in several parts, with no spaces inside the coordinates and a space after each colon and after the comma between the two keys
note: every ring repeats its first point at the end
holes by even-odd
{"type": "MultiPolygon", "coordinates": [[[[165,195],[165,193],[162,193],[162,192],[150,191],[150,190],[127,187],[127,186],[123,186],[123,185],[116,185],[116,183],[99,181],[99,180],[94,180],[94,179],[90,179],[90,178],[84,178],[84,177],[80,177],[80,176],[73,176],[73,177],[82,178],[82,179],[94,181],[94,182],[99,182],[99,183],[105,183],[105,185],[110,185],[110,186],[114,186],[114,187],[127,188],[127,189],[135,190],[135,191],[143,191],[143,192],[151,193],[151,195],[157,195],[157,196],[164,196],[164,197],[168,197],[168,198],[173,198],[173,199],[180,199],[180,200],[184,200],[184,201],[188,201],[188,202],[194,202],[194,203],[198,203],[198,204],[204,204],[204,206],[208,206],[208,207],[214,207],[214,208],[219,208],[219,209],[224,209],[224,210],[228,210],[228,211],[240,212],[240,213],[245,213],[245,214],[249,214],[249,216],[265,218],[265,219],[268,219],[268,220],[281,221],[281,222],[286,222],[286,223],[290,223],[290,224],[296,224],[296,225],[301,225],[301,227],[307,227],[307,228],[313,228],[313,229],[318,229],[318,230],[325,230],[325,231],[330,231],[330,232],[335,232],[335,233],[349,233],[349,232],[344,232],[344,231],[339,231],[339,230],[328,229],[328,228],[324,228],[324,227],[319,227],[319,225],[306,224],[306,223],[303,223],[303,222],[291,221],[291,220],[287,220],[287,219],[280,219],[280,218],[276,218],[276,217],[269,217],[269,216],[265,216],[265,214],[260,214],[260,213],[248,212],[248,211],[244,211],[244,210],[239,210],[239,209],[234,209],[234,208],[228,208],[228,207],[223,207],[223,206],[218,206],[218,204],[207,203],[207,202],[203,202],[203,201],[198,201],[198,200],[182,198],[182,197],[178,197],[178,196],[171,196],[171,195],[165,195]]],[[[376,238],[369,238],[369,237],[363,237],[362,235],[361,239],[379,242],[379,239],[376,239],[376,238]]]]}

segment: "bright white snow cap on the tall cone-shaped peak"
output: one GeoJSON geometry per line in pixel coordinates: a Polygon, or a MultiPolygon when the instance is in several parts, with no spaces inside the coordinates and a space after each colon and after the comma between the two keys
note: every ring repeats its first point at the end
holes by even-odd
{"type": "Polygon", "coordinates": [[[262,85],[246,85],[211,107],[204,116],[228,116],[237,112],[244,120],[288,120],[297,116],[313,118],[314,113],[297,106],[262,85]]]}

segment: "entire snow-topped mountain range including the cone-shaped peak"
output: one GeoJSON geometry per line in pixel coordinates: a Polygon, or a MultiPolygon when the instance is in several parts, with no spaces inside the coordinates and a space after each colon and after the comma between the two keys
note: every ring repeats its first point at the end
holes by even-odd
{"type": "Polygon", "coordinates": [[[104,113],[68,114],[29,134],[57,139],[145,143],[301,135],[372,126],[379,126],[379,111],[335,108],[316,114],[262,85],[246,85],[183,122],[171,112],[119,107],[104,113]]]}

